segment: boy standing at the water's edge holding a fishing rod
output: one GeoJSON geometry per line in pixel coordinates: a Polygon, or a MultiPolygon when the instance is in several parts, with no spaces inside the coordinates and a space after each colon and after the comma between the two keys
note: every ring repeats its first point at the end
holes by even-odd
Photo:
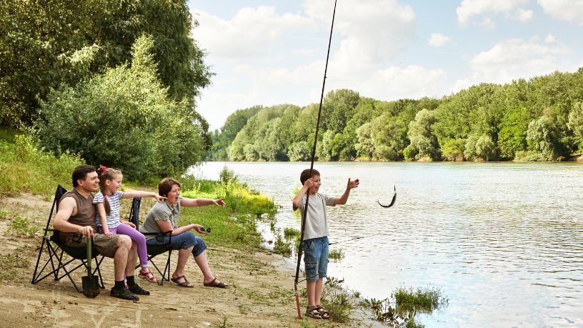
{"type": "Polygon", "coordinates": [[[312,169],[304,169],[299,176],[302,182],[302,189],[291,202],[296,209],[300,209],[302,221],[304,208],[306,207],[306,193],[309,192],[308,212],[306,227],[304,227],[304,241],[302,250],[304,252],[304,264],[306,269],[306,289],[308,292],[308,307],[306,315],[315,319],[328,319],[329,313],[320,303],[322,297],[322,284],[327,277],[328,268],[328,221],[326,217],[326,207],[334,205],[344,205],[347,203],[350,189],[359,186],[359,179],[351,181],[348,179],[347,189],[342,197],[331,197],[327,194],[320,194],[318,189],[322,185],[320,182],[320,172],[312,169]]]}

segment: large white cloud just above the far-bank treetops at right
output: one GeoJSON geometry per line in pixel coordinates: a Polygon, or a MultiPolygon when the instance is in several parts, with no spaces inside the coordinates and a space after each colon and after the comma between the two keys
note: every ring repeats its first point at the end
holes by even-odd
{"type": "Polygon", "coordinates": [[[458,80],[452,91],[482,82],[509,83],[513,79],[528,79],[556,70],[572,71],[577,68],[566,59],[570,52],[567,46],[544,44],[539,39],[508,39],[473,56],[469,59],[472,74],[458,80]]]}

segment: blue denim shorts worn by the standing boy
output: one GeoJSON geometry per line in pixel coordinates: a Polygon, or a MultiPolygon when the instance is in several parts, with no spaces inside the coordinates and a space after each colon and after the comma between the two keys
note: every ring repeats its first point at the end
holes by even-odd
{"type": "Polygon", "coordinates": [[[327,277],[328,270],[328,237],[306,239],[302,243],[306,280],[316,282],[327,277]]]}

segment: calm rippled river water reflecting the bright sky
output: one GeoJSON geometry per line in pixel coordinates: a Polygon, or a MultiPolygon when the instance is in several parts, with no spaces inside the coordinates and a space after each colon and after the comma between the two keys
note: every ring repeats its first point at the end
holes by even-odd
{"type": "MultiPolygon", "coordinates": [[[[291,197],[309,163],[208,162],[192,169],[218,179],[224,167],[282,206],[277,227],[299,229],[291,197]]],[[[397,287],[439,287],[442,311],[427,327],[583,327],[583,164],[316,163],[329,207],[330,242],[344,258],[329,276],[363,297],[397,287]],[[384,209],[397,187],[397,202],[384,209]]],[[[229,199],[226,199],[228,202],[229,199]]],[[[293,286],[293,278],[290,278],[293,286]]]]}

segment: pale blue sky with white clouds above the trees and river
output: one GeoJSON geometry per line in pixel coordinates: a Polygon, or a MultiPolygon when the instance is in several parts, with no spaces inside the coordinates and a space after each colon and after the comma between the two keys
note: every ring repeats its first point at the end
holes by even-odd
{"type": "MultiPolygon", "coordinates": [[[[334,0],[188,3],[216,75],[197,110],[220,129],[254,105],[318,103],[334,0]]],[[[583,0],[339,0],[325,92],[442,97],[583,66],[583,0]]]]}

